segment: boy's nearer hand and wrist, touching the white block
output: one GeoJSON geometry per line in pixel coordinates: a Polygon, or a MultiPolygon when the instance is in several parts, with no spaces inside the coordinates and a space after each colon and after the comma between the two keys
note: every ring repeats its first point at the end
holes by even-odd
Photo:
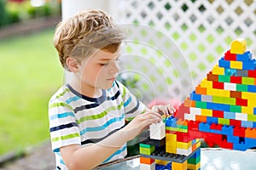
{"type": "Polygon", "coordinates": [[[131,140],[138,134],[142,133],[143,130],[147,129],[150,124],[161,121],[162,117],[159,113],[148,110],[145,113],[136,116],[131,122],[122,128],[122,130],[129,135],[129,139],[131,140]]]}

